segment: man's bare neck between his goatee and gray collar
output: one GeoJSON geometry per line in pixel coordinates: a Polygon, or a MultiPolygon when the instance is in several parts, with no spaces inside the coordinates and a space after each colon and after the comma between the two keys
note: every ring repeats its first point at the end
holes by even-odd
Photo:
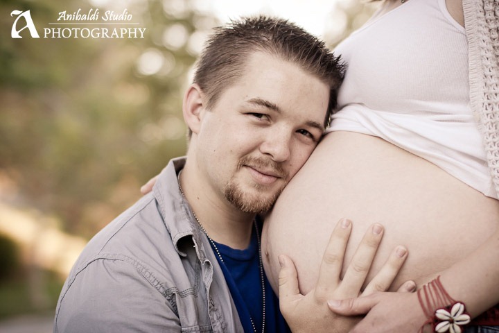
{"type": "Polygon", "coordinates": [[[195,175],[195,170],[189,169],[186,164],[179,182],[198,222],[213,241],[231,248],[247,248],[255,215],[241,212],[225,196],[196,179],[195,175]]]}

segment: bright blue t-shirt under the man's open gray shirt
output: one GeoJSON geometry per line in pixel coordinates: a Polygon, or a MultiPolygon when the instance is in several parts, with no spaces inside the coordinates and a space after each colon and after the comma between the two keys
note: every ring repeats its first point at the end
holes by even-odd
{"type": "MultiPolygon", "coordinates": [[[[261,226],[259,230],[261,233],[261,226]]],[[[253,230],[251,242],[245,250],[236,250],[215,242],[223,262],[220,261],[211,244],[246,333],[254,333],[251,319],[253,319],[256,332],[261,332],[262,329],[263,301],[256,237],[256,232],[253,230]]],[[[288,325],[279,311],[279,300],[272,291],[265,273],[263,273],[263,278],[265,280],[265,332],[288,333],[290,332],[288,325]]]]}

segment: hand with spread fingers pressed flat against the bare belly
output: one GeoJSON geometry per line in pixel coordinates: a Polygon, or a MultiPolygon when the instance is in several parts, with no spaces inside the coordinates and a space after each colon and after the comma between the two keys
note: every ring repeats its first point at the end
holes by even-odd
{"type": "MultiPolygon", "coordinates": [[[[345,249],[351,232],[351,221],[342,219],[336,225],[324,252],[319,278],[315,289],[302,295],[298,287],[295,264],[286,255],[279,256],[279,302],[281,312],[292,332],[349,332],[360,318],[334,314],[328,307],[328,300],[342,300],[367,296],[376,291],[386,291],[399,273],[407,249],[398,246],[392,251],[380,272],[361,291],[376,250],[383,237],[383,227],[371,225],[347,268],[340,278],[345,249]]],[[[415,284],[405,282],[399,291],[413,291],[415,284]]]]}

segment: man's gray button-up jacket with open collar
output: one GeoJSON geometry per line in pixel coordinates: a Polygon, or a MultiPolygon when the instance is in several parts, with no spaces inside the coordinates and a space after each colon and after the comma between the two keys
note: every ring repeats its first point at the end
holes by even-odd
{"type": "Polygon", "coordinates": [[[62,288],[55,333],[243,332],[171,160],[152,192],[89,241],[62,288]]]}

